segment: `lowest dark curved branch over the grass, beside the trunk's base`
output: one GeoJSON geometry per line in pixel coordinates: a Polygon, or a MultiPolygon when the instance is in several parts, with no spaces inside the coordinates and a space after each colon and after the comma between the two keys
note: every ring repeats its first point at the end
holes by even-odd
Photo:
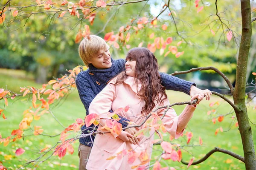
{"type": "MultiPolygon", "coordinates": [[[[236,153],[231,152],[230,150],[225,150],[225,149],[221,149],[219,147],[215,147],[214,149],[210,150],[203,158],[199,159],[198,161],[194,161],[191,165],[196,165],[196,164],[200,164],[201,162],[205,161],[206,159],[209,158],[209,156],[212,155],[212,153],[215,152],[222,152],[222,153],[226,153],[230,156],[233,156],[236,159],[239,159],[240,161],[244,162],[244,157],[237,155],[236,153]]],[[[183,164],[189,164],[188,162],[185,162],[181,159],[181,163],[183,164]]]]}

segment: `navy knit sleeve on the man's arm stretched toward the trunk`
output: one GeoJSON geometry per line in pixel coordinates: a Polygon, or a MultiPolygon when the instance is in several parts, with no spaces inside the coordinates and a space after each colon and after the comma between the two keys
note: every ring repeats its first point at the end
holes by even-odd
{"type": "Polygon", "coordinates": [[[189,82],[162,72],[159,72],[159,74],[161,77],[161,84],[166,88],[166,90],[181,91],[190,95],[189,91],[191,86],[196,86],[194,82],[189,82]]]}

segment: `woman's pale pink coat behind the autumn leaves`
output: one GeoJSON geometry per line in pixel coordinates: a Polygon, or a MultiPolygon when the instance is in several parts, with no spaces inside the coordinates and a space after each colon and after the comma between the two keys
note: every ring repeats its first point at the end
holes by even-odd
{"type": "MultiPolygon", "coordinates": [[[[101,118],[110,119],[107,116],[108,111],[115,111],[118,108],[129,106],[130,109],[120,116],[129,119],[131,122],[140,124],[143,121],[143,115],[141,114],[144,101],[141,101],[137,96],[137,88],[134,83],[134,77],[128,77],[124,83],[114,86],[115,81],[111,81],[91,102],[89,107],[89,114],[99,114],[101,118]]],[[[140,91],[140,88],[138,89],[140,91]]],[[[169,101],[166,99],[164,105],[168,105],[169,101]]],[[[156,113],[161,117],[165,109],[159,109],[156,113]]],[[[186,106],[183,112],[193,112],[195,107],[186,106]]],[[[179,134],[176,133],[178,116],[173,108],[170,108],[165,117],[163,123],[166,130],[177,139],[182,135],[183,131],[179,134]]],[[[99,125],[99,127],[102,127],[99,125]]],[[[143,127],[140,127],[140,129],[143,127]]],[[[102,130],[104,131],[104,130],[102,130]]],[[[137,159],[133,164],[128,164],[128,155],[124,156],[121,160],[114,158],[112,160],[106,160],[111,156],[116,156],[116,153],[127,149],[134,150],[137,153],[145,151],[147,149],[148,156],[150,158],[154,140],[154,129],[151,129],[150,137],[143,137],[139,145],[131,144],[131,142],[124,142],[119,138],[115,138],[111,133],[105,133],[103,135],[96,134],[93,142],[93,148],[90,153],[89,160],[87,162],[87,170],[131,170],[134,165],[140,164],[140,160],[137,159]]]]}

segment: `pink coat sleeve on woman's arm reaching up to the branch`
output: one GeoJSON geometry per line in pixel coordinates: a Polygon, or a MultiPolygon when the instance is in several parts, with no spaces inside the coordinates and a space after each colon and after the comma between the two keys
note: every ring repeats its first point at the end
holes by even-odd
{"type": "MultiPolygon", "coordinates": [[[[165,99],[164,105],[169,105],[169,104],[170,104],[169,100],[165,99]]],[[[160,118],[163,116],[165,110],[166,108],[158,110],[157,114],[160,118]]],[[[185,112],[193,113],[194,111],[195,111],[195,107],[193,107],[192,105],[190,106],[187,105],[181,114],[184,114],[185,112]]],[[[165,116],[162,119],[163,125],[166,127],[167,132],[170,133],[170,135],[172,135],[172,137],[174,137],[175,139],[178,139],[182,135],[185,129],[184,128],[180,133],[177,133],[178,119],[179,119],[179,116],[177,116],[173,108],[169,108],[169,110],[166,112],[165,116]]]]}

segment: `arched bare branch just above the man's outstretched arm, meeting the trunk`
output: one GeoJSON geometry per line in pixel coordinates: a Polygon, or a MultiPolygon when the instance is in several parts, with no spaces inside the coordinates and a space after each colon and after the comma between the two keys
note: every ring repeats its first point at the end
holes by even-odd
{"type": "Polygon", "coordinates": [[[231,94],[233,94],[234,87],[231,84],[230,80],[227,78],[227,76],[225,74],[223,74],[221,71],[219,71],[218,68],[215,68],[215,67],[212,67],[212,66],[211,67],[191,68],[190,70],[187,70],[187,71],[175,71],[174,73],[172,73],[170,75],[175,76],[175,75],[178,75],[178,74],[187,74],[187,73],[191,73],[193,71],[198,71],[198,70],[200,70],[200,71],[202,71],[202,70],[213,70],[216,73],[218,73],[227,82],[227,85],[230,88],[231,94]]]}

